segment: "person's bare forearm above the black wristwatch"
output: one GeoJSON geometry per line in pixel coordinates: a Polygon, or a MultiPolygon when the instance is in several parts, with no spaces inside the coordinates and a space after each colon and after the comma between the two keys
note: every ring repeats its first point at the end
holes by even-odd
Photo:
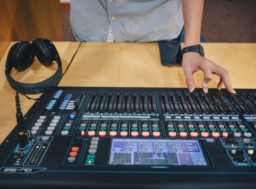
{"type": "Polygon", "coordinates": [[[182,3],[185,25],[184,47],[199,45],[204,0],[183,0],[182,3]]]}

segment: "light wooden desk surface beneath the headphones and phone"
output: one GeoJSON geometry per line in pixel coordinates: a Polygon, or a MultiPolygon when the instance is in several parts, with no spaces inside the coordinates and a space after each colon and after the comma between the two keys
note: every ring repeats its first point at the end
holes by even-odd
{"type": "MultiPolygon", "coordinates": [[[[0,62],[0,144],[16,125],[15,91],[4,74],[11,43],[0,62]]],[[[62,60],[63,71],[78,48],[78,42],[54,43],[62,60]]],[[[183,45],[183,44],[182,44],[183,45]]],[[[233,88],[256,89],[256,44],[204,43],[206,58],[229,70],[233,88]]],[[[40,82],[57,69],[42,66],[36,60],[29,69],[12,70],[12,77],[23,83],[40,82]]],[[[194,74],[201,87],[203,72],[194,74]]],[[[213,76],[210,88],[216,88],[219,77],[213,76]]],[[[187,87],[182,67],[161,66],[157,43],[83,43],[59,86],[81,87],[187,87]]],[[[37,98],[40,94],[30,95],[37,98]]],[[[23,114],[34,100],[20,95],[23,114]]]]}

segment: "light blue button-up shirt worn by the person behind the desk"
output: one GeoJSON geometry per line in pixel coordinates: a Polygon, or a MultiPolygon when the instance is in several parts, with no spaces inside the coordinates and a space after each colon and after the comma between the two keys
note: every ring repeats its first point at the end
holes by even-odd
{"type": "Polygon", "coordinates": [[[78,41],[173,40],[184,26],[181,0],[71,0],[71,25],[78,41]],[[111,27],[110,27],[111,26],[111,27]]]}

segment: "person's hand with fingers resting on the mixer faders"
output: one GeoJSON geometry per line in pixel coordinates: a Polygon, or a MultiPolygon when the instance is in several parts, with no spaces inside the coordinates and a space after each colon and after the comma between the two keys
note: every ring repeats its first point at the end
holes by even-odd
{"type": "Polygon", "coordinates": [[[218,90],[220,90],[223,84],[225,84],[225,87],[229,93],[236,93],[235,90],[233,90],[229,81],[228,70],[223,69],[223,67],[217,66],[217,64],[213,63],[213,61],[207,60],[199,53],[185,53],[183,55],[182,66],[186,77],[188,90],[190,91],[190,93],[193,92],[195,88],[193,73],[198,70],[202,70],[204,73],[202,88],[205,93],[208,93],[209,83],[213,79],[212,74],[217,74],[220,77],[220,82],[219,84],[217,84],[218,90]]]}

